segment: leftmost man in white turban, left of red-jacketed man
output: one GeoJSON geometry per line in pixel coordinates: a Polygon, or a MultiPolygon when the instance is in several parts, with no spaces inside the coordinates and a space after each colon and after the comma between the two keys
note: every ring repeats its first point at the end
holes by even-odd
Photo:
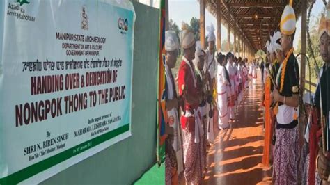
{"type": "Polygon", "coordinates": [[[171,69],[175,67],[178,57],[179,42],[174,31],[165,32],[164,57],[166,75],[166,110],[168,114],[168,124],[166,124],[165,141],[165,170],[166,184],[178,184],[178,175],[183,171],[183,151],[181,143],[181,133],[178,115],[178,95],[175,90],[174,77],[171,69]]]}

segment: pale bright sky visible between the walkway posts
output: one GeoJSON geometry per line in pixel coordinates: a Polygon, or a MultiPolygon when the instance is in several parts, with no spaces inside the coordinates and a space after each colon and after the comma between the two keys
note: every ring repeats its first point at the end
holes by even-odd
{"type": "MultiPolygon", "coordinates": [[[[315,20],[315,17],[320,16],[322,10],[324,9],[324,4],[322,0],[316,0],[312,11],[311,11],[311,22],[315,20]]],[[[197,0],[168,0],[168,16],[169,19],[173,19],[179,29],[181,28],[182,22],[187,22],[189,24],[191,17],[199,18],[199,3],[197,0]]],[[[205,10],[205,25],[214,25],[215,35],[217,37],[217,19],[211,15],[207,9],[205,10]]],[[[301,18],[297,20],[297,31],[294,37],[294,48],[297,48],[299,38],[301,35],[301,18]]],[[[207,34],[207,33],[206,33],[207,34]]],[[[221,24],[221,38],[227,38],[227,29],[221,24]]],[[[233,42],[233,33],[230,33],[230,40],[233,42]]]]}

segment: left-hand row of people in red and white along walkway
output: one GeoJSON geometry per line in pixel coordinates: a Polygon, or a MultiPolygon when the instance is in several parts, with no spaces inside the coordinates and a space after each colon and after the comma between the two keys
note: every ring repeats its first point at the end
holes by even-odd
{"type": "MultiPolygon", "coordinates": [[[[175,67],[180,45],[174,31],[165,33],[166,184],[179,184],[182,179],[186,184],[201,184],[207,166],[207,147],[214,142],[218,129],[230,127],[253,76],[246,58],[236,58],[230,52],[226,56],[217,53],[214,27],[207,27],[207,31],[208,46],[203,50],[194,33],[182,28],[183,56],[178,83],[171,69],[175,67]]],[[[251,70],[256,73],[256,65],[253,66],[251,70]]]]}

